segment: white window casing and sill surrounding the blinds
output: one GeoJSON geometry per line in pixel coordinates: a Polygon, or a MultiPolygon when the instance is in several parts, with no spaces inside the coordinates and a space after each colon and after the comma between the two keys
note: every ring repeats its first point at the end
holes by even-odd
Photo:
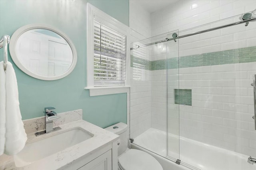
{"type": "Polygon", "coordinates": [[[130,90],[130,28],[98,8],[87,3],[87,84],[90,96],[127,93],[130,90]],[[94,87],[94,19],[126,35],[126,81],[125,86],[94,87]],[[91,57],[92,56],[92,57],[91,57]]]}

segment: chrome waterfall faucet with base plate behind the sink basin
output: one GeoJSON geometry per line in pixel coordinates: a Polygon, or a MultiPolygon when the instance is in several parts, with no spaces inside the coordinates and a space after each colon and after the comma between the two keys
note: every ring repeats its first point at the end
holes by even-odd
{"type": "Polygon", "coordinates": [[[60,127],[53,127],[52,120],[59,118],[57,113],[55,111],[53,111],[53,109],[55,109],[55,108],[54,107],[44,107],[45,130],[36,132],[35,133],[36,136],[44,135],[46,133],[58,131],[61,129],[60,127]]]}

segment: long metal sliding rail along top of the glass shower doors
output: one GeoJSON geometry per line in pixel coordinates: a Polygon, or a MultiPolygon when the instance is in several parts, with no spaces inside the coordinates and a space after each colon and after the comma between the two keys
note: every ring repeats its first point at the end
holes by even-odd
{"type": "Polygon", "coordinates": [[[186,35],[181,35],[181,36],[178,36],[178,37],[174,37],[174,38],[166,38],[162,41],[156,41],[154,43],[149,43],[149,44],[145,44],[145,45],[136,45],[136,47],[132,47],[131,50],[133,49],[138,49],[140,47],[146,47],[146,46],[149,46],[149,45],[153,45],[153,44],[157,44],[157,43],[162,43],[162,42],[165,42],[165,41],[170,41],[170,40],[175,40],[175,39],[180,39],[180,38],[184,38],[184,37],[189,37],[189,36],[192,36],[192,35],[197,35],[197,34],[200,34],[200,33],[206,33],[206,32],[209,32],[209,31],[214,31],[214,30],[217,30],[217,29],[222,29],[222,28],[226,28],[226,27],[230,27],[230,26],[233,26],[233,25],[239,25],[241,23],[246,23],[246,26],[248,25],[249,21],[254,21],[256,20],[256,18],[251,18],[251,19],[248,19],[248,20],[243,20],[243,21],[238,21],[238,22],[234,22],[234,23],[229,23],[229,24],[226,24],[226,25],[222,25],[222,26],[219,26],[219,27],[214,27],[214,28],[210,28],[210,29],[205,29],[203,31],[198,31],[198,32],[195,32],[195,33],[191,33],[191,34],[186,34],[186,35]],[[248,23],[247,23],[248,22],[248,23]]]}

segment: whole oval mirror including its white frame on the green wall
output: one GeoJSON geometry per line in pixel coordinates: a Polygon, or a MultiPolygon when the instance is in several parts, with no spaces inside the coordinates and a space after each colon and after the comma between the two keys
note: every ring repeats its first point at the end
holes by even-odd
{"type": "Polygon", "coordinates": [[[74,44],[64,33],[48,25],[25,25],[17,29],[9,49],[20,70],[41,80],[58,80],[76,66],[74,44]]]}

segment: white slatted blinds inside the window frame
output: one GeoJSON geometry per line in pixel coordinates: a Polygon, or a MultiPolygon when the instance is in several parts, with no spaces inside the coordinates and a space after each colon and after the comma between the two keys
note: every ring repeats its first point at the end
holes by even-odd
{"type": "Polygon", "coordinates": [[[124,86],[126,35],[94,20],[94,86],[124,86]]]}

